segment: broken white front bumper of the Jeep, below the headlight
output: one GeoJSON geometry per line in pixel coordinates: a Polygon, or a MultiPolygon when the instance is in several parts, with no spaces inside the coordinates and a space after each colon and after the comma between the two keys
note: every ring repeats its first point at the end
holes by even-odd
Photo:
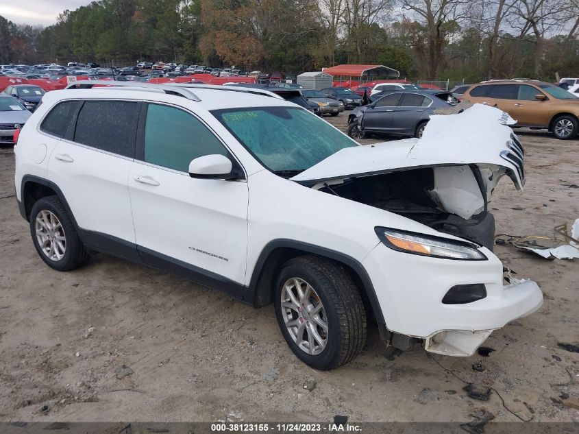
{"type": "Polygon", "coordinates": [[[389,250],[380,244],[363,261],[386,321],[386,328],[425,339],[430,352],[469,356],[493,330],[537,311],[543,294],[537,283],[503,285],[502,263],[480,248],[486,261],[454,261],[389,250]],[[457,285],[484,285],[486,296],[444,304],[457,285]]]}

